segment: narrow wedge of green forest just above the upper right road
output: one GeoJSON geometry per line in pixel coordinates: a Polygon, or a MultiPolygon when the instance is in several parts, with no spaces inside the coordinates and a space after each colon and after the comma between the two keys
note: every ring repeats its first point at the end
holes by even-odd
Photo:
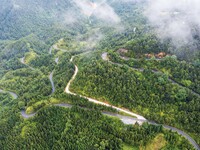
{"type": "Polygon", "coordinates": [[[141,59],[129,59],[127,57],[128,60],[121,59],[117,53],[111,52],[109,56],[113,62],[127,64],[133,68],[145,68],[161,72],[177,83],[192,89],[196,93],[200,93],[199,65],[187,63],[186,61],[178,61],[175,55],[166,56],[163,59],[146,59],[143,54],[143,58],[141,59]]]}

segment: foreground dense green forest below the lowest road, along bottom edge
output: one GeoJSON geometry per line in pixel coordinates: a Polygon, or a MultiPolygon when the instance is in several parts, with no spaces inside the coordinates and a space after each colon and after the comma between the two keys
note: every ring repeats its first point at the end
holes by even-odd
{"type": "Polygon", "coordinates": [[[29,120],[14,113],[17,110],[4,112],[8,118],[0,126],[1,149],[148,149],[158,141],[157,146],[164,149],[192,149],[184,138],[161,126],[125,126],[96,110],[51,106],[29,120]]]}

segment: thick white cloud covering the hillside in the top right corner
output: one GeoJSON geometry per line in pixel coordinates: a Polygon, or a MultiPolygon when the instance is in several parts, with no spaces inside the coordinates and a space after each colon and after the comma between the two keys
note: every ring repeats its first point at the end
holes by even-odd
{"type": "Polygon", "coordinates": [[[170,38],[176,46],[194,42],[200,29],[199,0],[147,0],[145,15],[158,29],[161,39],[170,38]]]}

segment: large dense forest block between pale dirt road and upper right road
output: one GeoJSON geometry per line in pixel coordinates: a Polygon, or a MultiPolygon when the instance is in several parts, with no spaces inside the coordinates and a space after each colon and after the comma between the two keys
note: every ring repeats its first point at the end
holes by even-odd
{"type": "Polygon", "coordinates": [[[78,64],[80,73],[72,85],[73,91],[129,108],[199,137],[199,96],[173,84],[166,75],[119,67],[96,60],[95,55],[80,59],[78,64]]]}

